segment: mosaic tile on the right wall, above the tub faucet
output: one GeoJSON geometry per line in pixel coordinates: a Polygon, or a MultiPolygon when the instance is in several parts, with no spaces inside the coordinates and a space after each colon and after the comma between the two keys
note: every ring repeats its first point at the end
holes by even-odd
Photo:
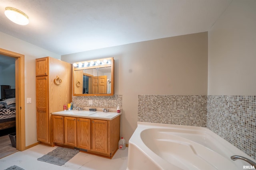
{"type": "Polygon", "coordinates": [[[208,96],[206,126],[256,159],[256,96],[208,96]]]}

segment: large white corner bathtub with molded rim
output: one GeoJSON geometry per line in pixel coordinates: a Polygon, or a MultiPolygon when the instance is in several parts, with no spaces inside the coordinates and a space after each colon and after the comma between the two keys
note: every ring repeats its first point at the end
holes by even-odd
{"type": "Polygon", "coordinates": [[[243,160],[231,160],[233,155],[253,160],[205,127],[138,122],[129,140],[127,170],[242,170],[251,167],[243,160]]]}

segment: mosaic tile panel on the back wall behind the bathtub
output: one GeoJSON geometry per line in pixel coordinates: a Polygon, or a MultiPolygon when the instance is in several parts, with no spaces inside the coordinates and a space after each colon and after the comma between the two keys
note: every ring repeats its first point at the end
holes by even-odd
{"type": "Polygon", "coordinates": [[[206,95],[139,95],[138,121],[206,127],[206,95]]]}

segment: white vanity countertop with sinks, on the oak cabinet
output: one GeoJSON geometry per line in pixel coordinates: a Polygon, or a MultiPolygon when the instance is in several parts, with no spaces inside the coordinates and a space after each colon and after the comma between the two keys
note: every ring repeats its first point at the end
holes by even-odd
{"type": "Polygon", "coordinates": [[[58,111],[58,112],[52,113],[52,115],[84,117],[84,118],[90,118],[90,119],[104,119],[104,120],[112,120],[121,114],[122,113],[103,112],[103,111],[88,111],[88,110],[80,110],[80,111],[67,110],[67,111],[58,111]]]}

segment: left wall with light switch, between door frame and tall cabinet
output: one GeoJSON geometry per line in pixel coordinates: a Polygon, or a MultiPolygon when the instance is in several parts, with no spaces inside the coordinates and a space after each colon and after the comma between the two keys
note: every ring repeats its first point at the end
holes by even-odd
{"type": "Polygon", "coordinates": [[[36,137],[36,58],[51,56],[60,59],[60,55],[32,45],[0,32],[0,48],[25,55],[25,133],[26,146],[37,142],[36,137]],[[26,98],[32,98],[26,104],[26,98]]]}

